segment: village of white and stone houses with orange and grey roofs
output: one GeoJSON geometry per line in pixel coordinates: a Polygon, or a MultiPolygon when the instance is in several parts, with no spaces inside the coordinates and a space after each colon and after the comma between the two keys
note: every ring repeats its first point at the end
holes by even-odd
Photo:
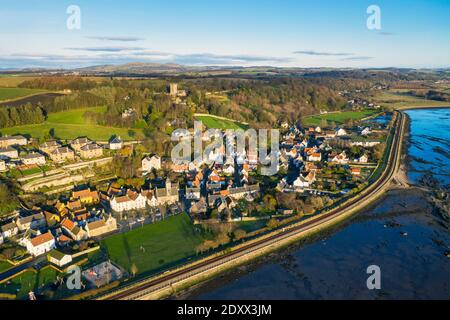
{"type": "MultiPolygon", "coordinates": [[[[183,97],[178,93],[177,102],[183,97]]],[[[174,164],[151,150],[142,152],[139,141],[118,136],[110,141],[0,137],[1,174],[12,179],[14,172],[27,170],[29,175],[16,178],[21,195],[47,196],[0,221],[0,248],[22,248],[12,260],[45,258],[67,267],[101,239],[174,215],[187,213],[195,224],[312,215],[367,184],[382,158],[389,125],[368,120],[302,128],[280,122],[278,172],[272,177],[260,175],[258,155],[247,149],[227,156],[233,142],[226,135],[208,164],[174,164]],[[137,178],[111,175],[112,163],[136,150],[137,178]]]]}

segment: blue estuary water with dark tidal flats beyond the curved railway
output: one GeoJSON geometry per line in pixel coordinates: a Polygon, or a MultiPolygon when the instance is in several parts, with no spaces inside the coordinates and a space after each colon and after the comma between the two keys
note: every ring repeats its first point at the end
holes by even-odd
{"type": "MultiPolygon", "coordinates": [[[[407,112],[413,183],[449,183],[450,109],[407,112]]],[[[450,233],[422,191],[396,190],[352,220],[190,290],[183,299],[450,299],[450,233]],[[367,268],[381,289],[367,288],[367,268]]]]}

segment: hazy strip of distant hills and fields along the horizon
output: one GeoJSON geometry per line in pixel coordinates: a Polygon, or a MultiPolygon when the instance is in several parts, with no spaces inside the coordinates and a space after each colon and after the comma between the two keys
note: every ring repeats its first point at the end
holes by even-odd
{"type": "Polygon", "coordinates": [[[450,69],[411,68],[298,68],[271,66],[188,66],[170,63],[133,62],[121,65],[97,65],[76,69],[14,69],[1,70],[2,74],[34,73],[36,75],[86,75],[123,77],[237,77],[269,79],[273,77],[306,77],[361,80],[437,80],[450,76],[450,69]]]}

